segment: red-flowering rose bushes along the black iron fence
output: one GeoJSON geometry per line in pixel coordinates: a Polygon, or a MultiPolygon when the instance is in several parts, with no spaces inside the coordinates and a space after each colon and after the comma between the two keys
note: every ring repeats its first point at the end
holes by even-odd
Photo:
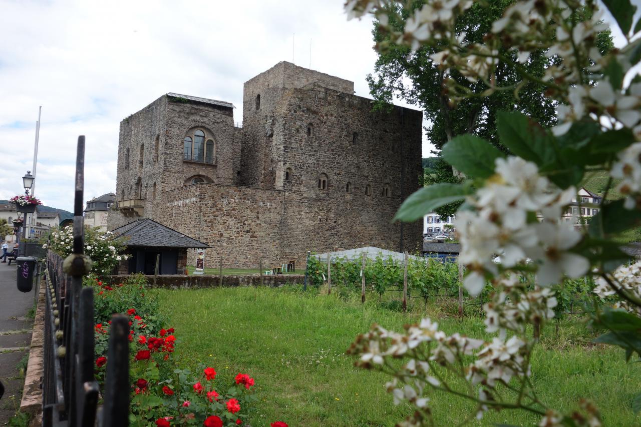
{"type": "MultiPolygon", "coordinates": [[[[231,384],[216,380],[215,367],[203,366],[196,373],[180,369],[174,360],[179,340],[174,328],[165,327],[158,313],[154,290],[146,289],[144,276],[131,275],[118,284],[96,278],[85,285],[96,290],[96,378],[104,387],[104,374],[111,315],[129,317],[129,379],[131,425],[144,426],[240,426],[256,400],[254,378],[238,373],[231,384]]],[[[274,423],[287,427],[280,421],[274,423]],[[278,424],[280,423],[280,424],[278,424]]]]}

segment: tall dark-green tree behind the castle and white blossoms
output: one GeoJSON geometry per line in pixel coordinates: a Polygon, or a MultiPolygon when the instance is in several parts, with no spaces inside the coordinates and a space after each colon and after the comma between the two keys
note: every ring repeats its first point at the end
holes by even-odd
{"type": "MultiPolygon", "coordinates": [[[[414,1],[412,11],[424,3],[422,0],[414,1]]],[[[492,22],[502,17],[505,8],[512,3],[514,0],[494,0],[488,2],[487,7],[475,3],[457,20],[456,34],[464,36],[464,44],[483,44],[483,37],[490,33],[492,22]]],[[[402,8],[399,3],[387,7],[389,27],[403,31],[411,15],[410,10],[402,8]]],[[[496,137],[496,115],[500,110],[518,110],[544,128],[556,123],[556,103],[545,96],[547,87],[532,80],[524,82],[511,66],[517,62],[515,51],[500,52],[510,59],[510,63],[497,64],[490,79],[495,81],[498,89],[487,96],[488,86],[483,81],[469,81],[456,69],[444,70],[433,63],[429,55],[441,51],[442,46],[425,45],[412,52],[410,47],[399,46],[390,40],[388,31],[381,28],[378,21],[374,22],[372,33],[378,47],[378,60],[374,74],[369,74],[367,81],[370,94],[377,101],[375,108],[386,108],[392,103],[393,96],[422,108],[428,120],[426,134],[437,152],[445,142],[465,133],[478,135],[504,149],[496,137]],[[456,81],[471,96],[452,103],[451,94],[444,85],[447,79],[456,81]]],[[[605,31],[599,38],[601,51],[609,51],[612,48],[610,31],[605,31]]],[[[547,58],[542,50],[533,51],[523,67],[540,80],[554,61],[554,58],[547,58]]]]}

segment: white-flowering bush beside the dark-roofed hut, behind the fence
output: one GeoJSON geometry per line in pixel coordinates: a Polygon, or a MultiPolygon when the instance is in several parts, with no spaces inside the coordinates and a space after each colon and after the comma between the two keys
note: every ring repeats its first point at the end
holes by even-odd
{"type": "MultiPolygon", "coordinates": [[[[71,255],[74,246],[74,230],[66,226],[62,230],[53,228],[49,233],[49,243],[44,249],[51,249],[66,258],[71,255]]],[[[92,273],[99,277],[112,274],[113,269],[127,255],[122,254],[124,245],[120,239],[115,239],[111,231],[99,231],[96,228],[85,228],[85,255],[92,260],[92,273]]]]}

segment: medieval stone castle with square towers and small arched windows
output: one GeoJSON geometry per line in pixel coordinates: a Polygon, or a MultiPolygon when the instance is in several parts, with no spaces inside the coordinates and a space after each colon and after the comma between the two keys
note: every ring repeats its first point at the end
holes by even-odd
{"type": "Polygon", "coordinates": [[[108,229],[149,217],[211,246],[206,267],[417,249],[421,222],[392,218],[419,188],[421,112],[374,112],[353,82],[288,62],[244,83],[242,128],[233,108],[169,93],[124,119],[108,229]]]}

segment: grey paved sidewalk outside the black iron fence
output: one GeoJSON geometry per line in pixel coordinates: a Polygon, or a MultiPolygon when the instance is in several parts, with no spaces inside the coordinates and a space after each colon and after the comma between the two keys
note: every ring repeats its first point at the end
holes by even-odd
{"type": "Polygon", "coordinates": [[[0,400],[0,426],[15,413],[11,396],[20,406],[22,380],[16,365],[28,353],[31,342],[32,321],[24,315],[33,306],[35,290],[27,294],[17,290],[16,275],[15,263],[0,263],[0,381],[5,387],[0,400]]]}

